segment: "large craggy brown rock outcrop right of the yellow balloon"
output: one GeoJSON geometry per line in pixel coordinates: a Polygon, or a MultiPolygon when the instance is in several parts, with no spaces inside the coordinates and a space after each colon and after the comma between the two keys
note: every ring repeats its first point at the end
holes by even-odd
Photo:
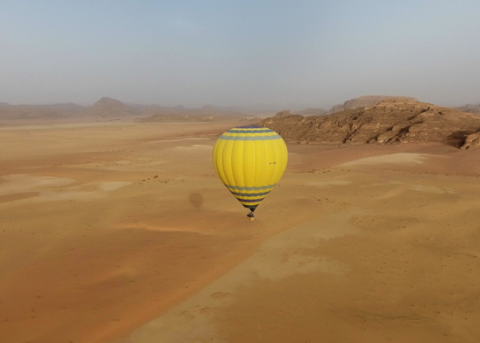
{"type": "Polygon", "coordinates": [[[387,99],[372,108],[328,116],[271,117],[263,126],[287,142],[360,144],[442,142],[462,146],[480,128],[480,116],[409,99],[387,99]]]}

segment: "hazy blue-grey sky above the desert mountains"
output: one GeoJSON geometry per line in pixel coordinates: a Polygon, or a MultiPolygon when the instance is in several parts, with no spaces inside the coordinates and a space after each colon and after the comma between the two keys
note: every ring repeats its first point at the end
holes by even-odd
{"type": "Polygon", "coordinates": [[[1,1],[0,102],[480,102],[480,1],[1,1]]]}

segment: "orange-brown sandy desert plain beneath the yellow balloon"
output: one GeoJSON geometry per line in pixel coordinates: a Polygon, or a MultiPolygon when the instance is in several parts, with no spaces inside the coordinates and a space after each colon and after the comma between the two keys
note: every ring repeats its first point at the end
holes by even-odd
{"type": "Polygon", "coordinates": [[[288,145],[250,222],[237,124],[0,128],[0,341],[478,342],[480,150],[288,145]]]}

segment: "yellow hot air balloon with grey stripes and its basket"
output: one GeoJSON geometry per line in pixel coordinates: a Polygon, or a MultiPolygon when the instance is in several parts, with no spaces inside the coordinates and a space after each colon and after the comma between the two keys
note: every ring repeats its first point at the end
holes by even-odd
{"type": "Polygon", "coordinates": [[[287,167],[287,145],[274,130],[239,126],[224,132],[213,148],[213,165],[224,185],[250,209],[265,199],[287,167]]]}

